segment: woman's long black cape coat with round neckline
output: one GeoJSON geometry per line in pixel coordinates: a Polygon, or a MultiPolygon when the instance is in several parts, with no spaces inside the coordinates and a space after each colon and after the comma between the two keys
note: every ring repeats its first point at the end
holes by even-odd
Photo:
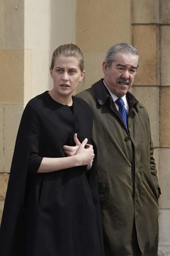
{"type": "MultiPolygon", "coordinates": [[[[92,110],[73,97],[73,113],[46,91],[24,109],[12,159],[0,229],[0,256],[103,256],[103,238],[93,166],[52,173],[28,172],[35,140],[40,157],[65,157],[64,145],[91,141],[92,110]]],[[[95,146],[94,146],[95,147],[95,146]]]]}

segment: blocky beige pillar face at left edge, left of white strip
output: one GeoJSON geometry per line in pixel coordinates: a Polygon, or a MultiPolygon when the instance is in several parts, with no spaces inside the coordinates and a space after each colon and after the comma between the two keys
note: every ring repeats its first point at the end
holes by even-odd
{"type": "Polygon", "coordinates": [[[0,8],[0,218],[24,97],[24,2],[0,8]]]}

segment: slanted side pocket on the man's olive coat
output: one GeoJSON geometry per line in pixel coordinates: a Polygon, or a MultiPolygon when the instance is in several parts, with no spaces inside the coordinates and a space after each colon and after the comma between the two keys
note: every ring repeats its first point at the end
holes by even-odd
{"type": "Polygon", "coordinates": [[[104,202],[105,202],[105,197],[107,193],[107,173],[98,170],[98,189],[99,189],[99,199],[100,199],[100,207],[104,208],[104,202]]]}

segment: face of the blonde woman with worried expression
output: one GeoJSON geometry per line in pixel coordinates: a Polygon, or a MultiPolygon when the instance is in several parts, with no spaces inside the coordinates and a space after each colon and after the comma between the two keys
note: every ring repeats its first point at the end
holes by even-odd
{"type": "Polygon", "coordinates": [[[61,96],[70,96],[84,77],[77,57],[56,57],[54,68],[50,67],[54,91],[61,96]]]}

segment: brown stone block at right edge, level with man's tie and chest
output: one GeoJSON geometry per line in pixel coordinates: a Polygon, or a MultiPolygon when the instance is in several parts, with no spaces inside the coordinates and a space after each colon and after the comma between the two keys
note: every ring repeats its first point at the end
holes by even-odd
{"type": "Polygon", "coordinates": [[[170,147],[170,87],[160,89],[160,145],[170,147]]]}

